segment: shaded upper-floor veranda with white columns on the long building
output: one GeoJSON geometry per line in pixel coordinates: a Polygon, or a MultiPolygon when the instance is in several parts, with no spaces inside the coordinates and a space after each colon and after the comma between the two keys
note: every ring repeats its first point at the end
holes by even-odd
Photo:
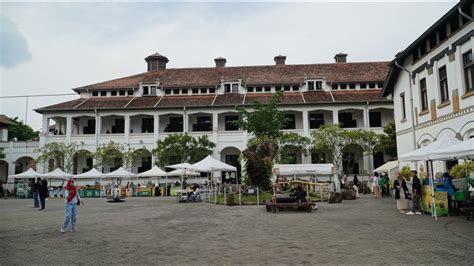
{"type": "MultiPolygon", "coordinates": [[[[310,133],[322,125],[365,128],[382,132],[393,121],[390,107],[285,110],[284,130],[310,133]]],[[[87,139],[156,139],[173,133],[238,135],[236,111],[170,111],[168,113],[104,112],[43,115],[43,136],[51,141],[87,139]],[[47,129],[47,130],[44,130],[47,129]]]]}

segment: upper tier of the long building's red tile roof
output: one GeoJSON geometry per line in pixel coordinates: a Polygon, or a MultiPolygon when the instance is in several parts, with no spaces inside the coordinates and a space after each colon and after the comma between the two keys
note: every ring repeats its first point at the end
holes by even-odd
{"type": "Polygon", "coordinates": [[[241,79],[244,85],[300,84],[304,83],[305,77],[324,77],[328,82],[384,81],[388,63],[171,68],[91,84],[74,90],[137,88],[140,82],[156,82],[157,80],[163,87],[214,87],[220,84],[222,79],[241,79]]]}

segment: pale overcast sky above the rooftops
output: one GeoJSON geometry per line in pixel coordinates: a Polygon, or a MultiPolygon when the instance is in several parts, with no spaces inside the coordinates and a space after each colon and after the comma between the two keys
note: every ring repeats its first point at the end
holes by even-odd
{"type": "MultiPolygon", "coordinates": [[[[456,2],[0,3],[0,96],[71,88],[168,68],[390,61],[456,2]]],[[[39,130],[39,108],[78,96],[0,98],[0,114],[39,130]],[[26,111],[28,110],[28,111],[26,111]]]]}

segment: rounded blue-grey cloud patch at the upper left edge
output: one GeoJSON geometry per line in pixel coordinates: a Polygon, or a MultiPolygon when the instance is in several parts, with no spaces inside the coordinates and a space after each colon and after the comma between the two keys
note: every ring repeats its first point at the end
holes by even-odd
{"type": "Polygon", "coordinates": [[[31,60],[26,38],[6,16],[0,15],[0,66],[13,68],[31,60]]]}

